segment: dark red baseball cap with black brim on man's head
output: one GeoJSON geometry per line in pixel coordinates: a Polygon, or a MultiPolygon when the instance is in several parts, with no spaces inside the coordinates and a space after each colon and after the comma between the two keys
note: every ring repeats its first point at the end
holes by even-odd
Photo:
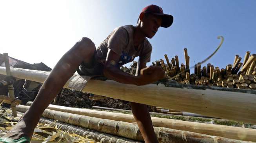
{"type": "Polygon", "coordinates": [[[161,27],[170,27],[173,22],[173,16],[169,14],[164,14],[163,9],[157,5],[149,5],[147,7],[144,7],[142,9],[142,13],[152,13],[155,15],[160,15],[162,16],[162,25],[161,27]]]}

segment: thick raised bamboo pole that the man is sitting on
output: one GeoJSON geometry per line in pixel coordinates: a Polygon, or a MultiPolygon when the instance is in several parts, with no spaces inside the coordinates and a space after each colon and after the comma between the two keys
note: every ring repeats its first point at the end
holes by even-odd
{"type": "MultiPolygon", "coordinates": [[[[11,68],[11,71],[14,77],[41,83],[49,74],[47,71],[18,68],[11,68]]],[[[0,67],[0,73],[5,74],[5,69],[0,67]]],[[[76,76],[78,75],[71,77],[64,87],[67,87],[76,76]]],[[[225,91],[220,91],[220,88],[200,89],[193,85],[187,85],[187,87],[180,84],[172,85],[172,83],[135,86],[113,80],[89,80],[82,91],[130,102],[256,124],[256,91],[225,88],[223,88],[225,91]]]]}

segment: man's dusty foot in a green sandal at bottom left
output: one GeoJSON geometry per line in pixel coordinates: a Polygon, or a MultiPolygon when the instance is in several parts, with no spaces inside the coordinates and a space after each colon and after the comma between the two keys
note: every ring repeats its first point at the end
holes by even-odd
{"type": "Polygon", "coordinates": [[[33,129],[30,129],[31,125],[26,124],[23,119],[21,119],[4,137],[12,138],[12,139],[20,139],[22,137],[32,138],[33,129]]]}

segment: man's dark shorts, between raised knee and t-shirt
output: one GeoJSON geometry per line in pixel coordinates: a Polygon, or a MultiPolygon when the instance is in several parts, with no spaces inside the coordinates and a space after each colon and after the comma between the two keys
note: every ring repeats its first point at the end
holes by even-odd
{"type": "Polygon", "coordinates": [[[77,70],[79,75],[102,75],[103,76],[104,65],[98,63],[96,49],[94,52],[93,60],[91,63],[82,62],[77,70]]]}

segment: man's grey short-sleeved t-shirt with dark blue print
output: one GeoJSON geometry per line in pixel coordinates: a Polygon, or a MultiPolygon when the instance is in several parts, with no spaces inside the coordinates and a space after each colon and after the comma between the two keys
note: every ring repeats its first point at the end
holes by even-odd
{"type": "Polygon", "coordinates": [[[140,57],[141,62],[149,62],[152,52],[152,46],[145,38],[144,42],[135,49],[133,43],[133,33],[135,27],[133,25],[126,25],[117,27],[109,36],[96,48],[97,61],[104,63],[107,56],[108,48],[120,55],[118,66],[129,63],[134,60],[134,57],[140,57]]]}

